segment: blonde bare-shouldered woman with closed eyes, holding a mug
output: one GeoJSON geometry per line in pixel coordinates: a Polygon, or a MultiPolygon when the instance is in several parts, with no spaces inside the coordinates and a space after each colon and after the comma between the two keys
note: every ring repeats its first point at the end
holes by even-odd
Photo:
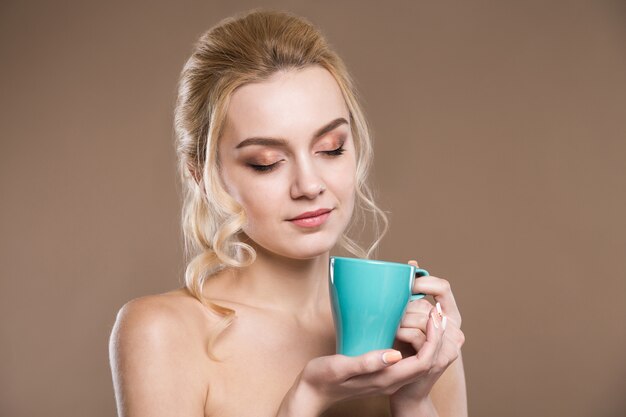
{"type": "Polygon", "coordinates": [[[346,231],[362,212],[386,220],[355,88],[310,23],[257,10],[205,33],[176,132],[194,257],[184,288],[118,314],[121,416],[467,414],[461,317],[441,278],[415,281],[438,303],[409,304],[397,350],[334,353],[329,252],[367,256],[346,231]]]}

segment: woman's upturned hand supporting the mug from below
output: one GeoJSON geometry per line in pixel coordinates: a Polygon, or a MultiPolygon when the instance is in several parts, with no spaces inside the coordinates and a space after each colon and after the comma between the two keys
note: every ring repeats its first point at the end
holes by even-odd
{"type": "Polygon", "coordinates": [[[447,366],[437,361],[445,329],[436,310],[433,310],[434,314],[430,315],[427,323],[426,342],[416,355],[402,359],[400,352],[386,349],[355,357],[331,355],[314,358],[304,367],[288,394],[291,406],[283,401],[283,413],[278,415],[290,415],[291,412],[286,412],[287,408],[297,411],[298,415],[319,415],[342,400],[391,395],[408,383],[437,378],[439,375],[433,376],[431,370],[447,366]],[[436,326],[433,320],[438,321],[436,326]]]}

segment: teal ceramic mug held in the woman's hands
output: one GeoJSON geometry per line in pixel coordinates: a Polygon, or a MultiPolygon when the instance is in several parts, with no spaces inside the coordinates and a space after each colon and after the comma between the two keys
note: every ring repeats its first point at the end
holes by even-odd
{"type": "Polygon", "coordinates": [[[331,256],[329,289],[337,353],[358,356],[390,349],[416,276],[428,271],[414,265],[331,256]]]}

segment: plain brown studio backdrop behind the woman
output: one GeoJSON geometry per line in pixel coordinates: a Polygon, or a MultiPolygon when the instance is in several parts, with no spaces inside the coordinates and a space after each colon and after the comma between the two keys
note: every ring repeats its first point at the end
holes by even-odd
{"type": "Polygon", "coordinates": [[[521,0],[2,2],[0,415],[114,415],[115,313],[183,269],[178,73],[262,4],[353,72],[379,257],[452,282],[471,415],[623,416],[626,5],[521,0]]]}

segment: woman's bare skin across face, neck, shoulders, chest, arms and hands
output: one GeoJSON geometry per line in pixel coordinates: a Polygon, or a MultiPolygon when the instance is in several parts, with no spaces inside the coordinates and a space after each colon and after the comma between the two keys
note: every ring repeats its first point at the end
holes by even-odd
{"type": "Polygon", "coordinates": [[[184,288],[127,303],[110,340],[120,416],[385,416],[387,396],[396,417],[467,415],[461,316],[442,278],[416,279],[413,290],[440,303],[445,329],[438,310],[418,300],[398,330],[401,360],[392,350],[335,354],[327,268],[354,208],[349,120],[320,67],[233,93],[219,143],[222,181],[246,211],[257,258],[212,276],[204,291],[236,319],[214,361],[207,343],[219,317],[184,288]],[[289,221],[319,208],[332,209],[321,226],[289,221]]]}

